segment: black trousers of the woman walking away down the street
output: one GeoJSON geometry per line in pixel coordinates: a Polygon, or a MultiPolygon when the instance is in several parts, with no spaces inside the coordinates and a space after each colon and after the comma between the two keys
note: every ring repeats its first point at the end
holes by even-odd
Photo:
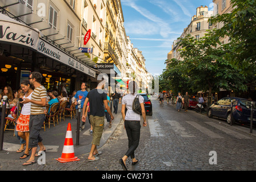
{"type": "Polygon", "coordinates": [[[134,151],[139,145],[139,137],[141,135],[141,123],[140,121],[125,120],[125,130],[128,137],[128,147],[126,156],[135,158],[134,151]]]}

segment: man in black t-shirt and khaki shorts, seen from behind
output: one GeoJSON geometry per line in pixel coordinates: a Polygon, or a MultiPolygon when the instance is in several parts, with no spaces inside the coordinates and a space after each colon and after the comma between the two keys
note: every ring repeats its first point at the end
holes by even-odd
{"type": "Polygon", "coordinates": [[[97,155],[101,154],[101,151],[97,151],[97,146],[101,141],[101,136],[104,129],[104,118],[105,118],[105,109],[110,114],[111,121],[114,119],[113,114],[111,113],[110,107],[107,104],[107,94],[103,92],[105,81],[98,81],[97,88],[91,90],[85,99],[83,112],[82,112],[82,121],[85,122],[85,107],[88,102],[90,102],[90,121],[93,126],[93,141],[91,142],[91,151],[88,156],[89,161],[98,160],[97,155]],[[105,109],[104,109],[105,106],[105,109]]]}

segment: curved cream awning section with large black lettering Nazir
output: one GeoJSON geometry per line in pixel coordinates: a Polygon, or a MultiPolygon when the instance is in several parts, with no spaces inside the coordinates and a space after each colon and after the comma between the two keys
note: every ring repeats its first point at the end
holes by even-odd
{"type": "Polygon", "coordinates": [[[37,49],[39,32],[22,24],[0,20],[0,41],[21,44],[22,46],[37,49]]]}

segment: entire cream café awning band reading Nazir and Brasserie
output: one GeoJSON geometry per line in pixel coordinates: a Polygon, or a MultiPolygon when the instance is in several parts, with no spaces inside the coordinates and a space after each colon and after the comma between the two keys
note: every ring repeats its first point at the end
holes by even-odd
{"type": "Polygon", "coordinates": [[[21,44],[30,47],[63,64],[69,65],[95,78],[96,72],[85,64],[73,59],[60,49],[39,38],[39,32],[33,28],[6,20],[0,20],[0,41],[21,44]]]}

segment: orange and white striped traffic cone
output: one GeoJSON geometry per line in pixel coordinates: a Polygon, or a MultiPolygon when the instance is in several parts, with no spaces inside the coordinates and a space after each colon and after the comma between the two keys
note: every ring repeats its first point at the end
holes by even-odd
{"type": "Polygon", "coordinates": [[[73,145],[73,138],[72,138],[70,123],[69,125],[67,125],[67,133],[66,133],[66,138],[65,138],[65,143],[62,150],[61,158],[58,158],[56,160],[58,160],[61,163],[80,160],[75,156],[75,153],[74,153],[74,145],[73,145]]]}

